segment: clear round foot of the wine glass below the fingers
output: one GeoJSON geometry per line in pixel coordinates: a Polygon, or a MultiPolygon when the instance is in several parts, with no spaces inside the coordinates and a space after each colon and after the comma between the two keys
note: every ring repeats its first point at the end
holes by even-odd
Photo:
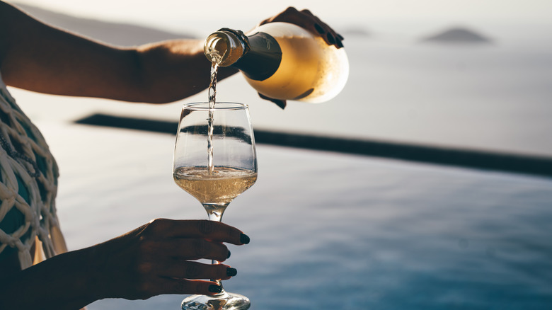
{"type": "Polygon", "coordinates": [[[246,310],[251,303],[240,294],[192,295],[182,301],[182,310],[246,310]]]}

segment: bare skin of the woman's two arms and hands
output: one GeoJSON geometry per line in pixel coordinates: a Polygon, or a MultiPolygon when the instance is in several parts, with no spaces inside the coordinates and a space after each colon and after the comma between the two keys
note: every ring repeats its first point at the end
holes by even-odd
{"type": "MultiPolygon", "coordinates": [[[[273,21],[295,23],[330,45],[343,46],[343,38],[309,11],[288,8],[262,23],[273,21]]],[[[170,103],[205,90],[209,67],[200,40],[115,47],[52,28],[0,1],[0,72],[8,86],[64,96],[170,103]]],[[[218,78],[236,72],[221,68],[218,78]]],[[[196,260],[226,260],[224,243],[241,245],[248,237],[222,223],[156,219],[23,271],[13,253],[0,262],[0,309],[80,309],[108,297],[215,294],[216,283],[202,279],[226,280],[236,270],[196,260]]]]}

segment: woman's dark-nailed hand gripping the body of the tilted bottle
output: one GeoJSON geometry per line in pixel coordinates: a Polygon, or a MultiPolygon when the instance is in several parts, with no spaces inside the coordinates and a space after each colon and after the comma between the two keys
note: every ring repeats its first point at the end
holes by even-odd
{"type": "MultiPolygon", "coordinates": [[[[343,36],[339,33],[336,33],[335,30],[330,28],[329,25],[316,17],[309,10],[297,11],[296,8],[290,6],[282,13],[277,14],[271,18],[267,18],[264,21],[260,22],[259,25],[264,25],[265,23],[274,23],[274,22],[285,22],[298,25],[301,28],[309,30],[315,35],[319,35],[321,38],[328,43],[328,45],[334,45],[337,48],[343,47],[343,36]]],[[[276,103],[277,106],[284,109],[286,107],[286,101],[282,99],[269,98],[259,93],[260,98],[276,103]]]]}

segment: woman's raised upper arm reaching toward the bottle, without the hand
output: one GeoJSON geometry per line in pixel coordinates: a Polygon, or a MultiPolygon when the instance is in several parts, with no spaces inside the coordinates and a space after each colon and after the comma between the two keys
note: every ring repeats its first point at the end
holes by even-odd
{"type": "MultiPolygon", "coordinates": [[[[166,103],[207,88],[209,68],[202,40],[113,47],[53,28],[0,1],[0,72],[10,86],[166,103]]],[[[218,77],[236,72],[222,68],[218,77]]]]}

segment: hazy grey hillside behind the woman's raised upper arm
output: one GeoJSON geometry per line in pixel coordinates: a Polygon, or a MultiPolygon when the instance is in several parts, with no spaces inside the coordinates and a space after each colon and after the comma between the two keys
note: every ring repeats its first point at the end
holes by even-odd
{"type": "Polygon", "coordinates": [[[161,40],[194,38],[189,34],[170,33],[141,25],[77,18],[36,6],[18,4],[17,2],[14,5],[44,23],[113,45],[133,46],[161,40]]]}

